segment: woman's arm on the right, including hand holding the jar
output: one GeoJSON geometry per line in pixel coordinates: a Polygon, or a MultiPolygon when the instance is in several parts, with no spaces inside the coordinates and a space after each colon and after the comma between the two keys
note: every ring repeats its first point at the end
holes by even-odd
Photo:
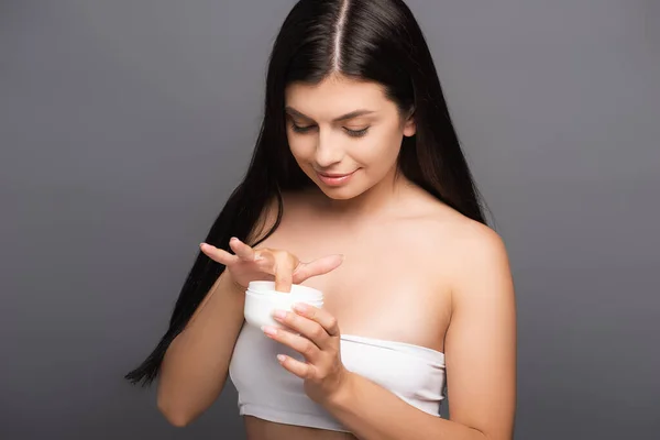
{"type": "MultiPolygon", "coordinates": [[[[483,229],[481,231],[484,231],[483,229]]],[[[327,311],[302,307],[276,318],[299,331],[266,334],[302,353],[282,365],[305,380],[307,394],[362,440],[510,440],[516,406],[514,286],[499,237],[490,229],[464,246],[446,336],[450,419],[426,414],[346,371],[339,328],[327,311]],[[465,260],[463,260],[465,262],[465,260]]]]}

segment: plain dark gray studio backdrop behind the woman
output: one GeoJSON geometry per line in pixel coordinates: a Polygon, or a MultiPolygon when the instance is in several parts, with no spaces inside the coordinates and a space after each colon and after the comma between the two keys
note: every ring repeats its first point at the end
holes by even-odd
{"type": "MultiPolygon", "coordinates": [[[[122,375],[242,176],[292,4],[0,2],[0,438],[240,430],[231,386],[178,430],[122,375]]],[[[658,438],[659,2],[409,4],[512,258],[516,438],[658,438]]]]}

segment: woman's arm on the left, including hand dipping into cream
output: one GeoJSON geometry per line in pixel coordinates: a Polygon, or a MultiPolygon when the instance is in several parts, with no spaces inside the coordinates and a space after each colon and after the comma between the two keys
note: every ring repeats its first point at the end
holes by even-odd
{"type": "MultiPolygon", "coordinates": [[[[276,217],[277,209],[272,204],[251,237],[267,231],[276,217]]],[[[327,274],[342,263],[340,255],[304,263],[286,251],[254,250],[237,239],[230,240],[229,245],[235,254],[208,244],[201,246],[202,252],[227,268],[184,331],[174,339],[161,365],[157,406],[165,418],[178,427],[199,417],[222,392],[244,320],[245,288],[241,286],[273,277],[276,290],[289,292],[292,284],[327,274]]]]}

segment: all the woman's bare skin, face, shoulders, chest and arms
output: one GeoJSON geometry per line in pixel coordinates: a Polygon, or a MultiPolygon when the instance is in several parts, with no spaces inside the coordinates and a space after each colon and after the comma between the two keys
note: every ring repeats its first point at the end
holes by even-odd
{"type": "MultiPolygon", "coordinates": [[[[502,239],[396,175],[414,113],[402,114],[377,85],[334,76],[293,85],[286,98],[292,153],[317,185],[284,195],[282,223],[260,246],[232,240],[231,254],[201,245],[228,268],[166,354],[162,411],[185,426],[212,404],[243,322],[244,287],[275,279],[283,295],[302,283],[323,292],[322,309],[285,312],[276,319],[290,331],[264,328],[264,338],[304,355],[282,367],[353,436],[245,417],[249,439],[512,439],[516,309],[502,239]],[[319,173],[353,174],[332,186],[319,173]],[[346,371],[342,332],[444,352],[451,419],[346,371]]],[[[271,206],[248,242],[274,216],[271,206]]]]}

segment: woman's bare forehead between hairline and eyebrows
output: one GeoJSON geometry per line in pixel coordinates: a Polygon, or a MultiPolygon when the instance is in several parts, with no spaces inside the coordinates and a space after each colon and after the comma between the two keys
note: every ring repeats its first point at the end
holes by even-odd
{"type": "Polygon", "coordinates": [[[314,85],[290,84],[285,90],[285,105],[319,121],[356,109],[376,112],[396,109],[380,84],[344,76],[331,76],[314,85]]]}

